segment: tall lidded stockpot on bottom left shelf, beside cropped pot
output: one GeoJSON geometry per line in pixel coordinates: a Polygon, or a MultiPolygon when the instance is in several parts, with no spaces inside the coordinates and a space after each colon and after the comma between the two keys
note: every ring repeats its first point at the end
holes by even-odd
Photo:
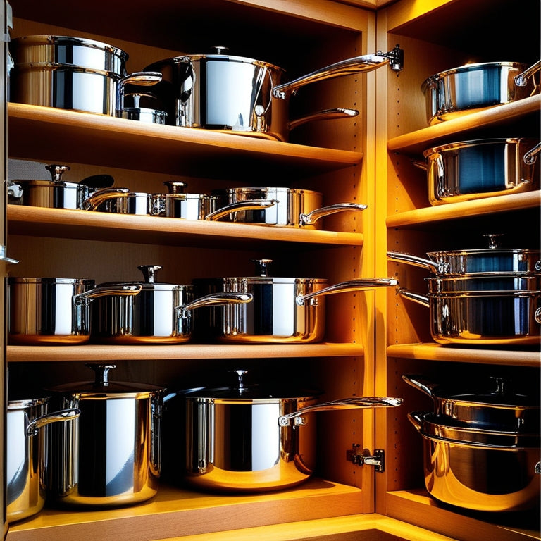
{"type": "Polygon", "coordinates": [[[113,364],[86,366],[94,381],[51,389],[63,408],[81,415],[61,428],[51,426],[47,497],[67,506],[144,502],[158,491],[165,389],[109,381],[113,364]]]}

